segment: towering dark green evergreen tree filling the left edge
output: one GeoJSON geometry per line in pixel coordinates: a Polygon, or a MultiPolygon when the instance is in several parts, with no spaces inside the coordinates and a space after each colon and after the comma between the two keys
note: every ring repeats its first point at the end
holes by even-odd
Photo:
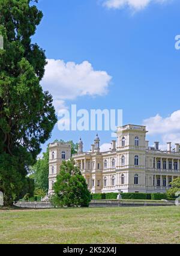
{"type": "Polygon", "coordinates": [[[46,56],[31,43],[43,14],[31,2],[0,0],[0,190],[5,204],[19,197],[28,166],[56,123],[52,96],[40,86],[46,56]]]}

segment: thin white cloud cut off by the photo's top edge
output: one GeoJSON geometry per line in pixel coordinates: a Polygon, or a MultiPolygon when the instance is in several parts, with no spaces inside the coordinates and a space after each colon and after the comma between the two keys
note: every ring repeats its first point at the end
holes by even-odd
{"type": "Polygon", "coordinates": [[[133,8],[133,10],[141,10],[150,3],[163,4],[172,0],[105,0],[103,5],[107,8],[121,9],[124,7],[133,8]]]}

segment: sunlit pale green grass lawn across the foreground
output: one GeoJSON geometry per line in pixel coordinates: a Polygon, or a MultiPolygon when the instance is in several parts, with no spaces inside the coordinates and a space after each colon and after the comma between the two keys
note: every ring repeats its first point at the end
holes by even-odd
{"type": "Polygon", "coordinates": [[[0,243],[180,243],[180,207],[0,209],[0,243]]]}

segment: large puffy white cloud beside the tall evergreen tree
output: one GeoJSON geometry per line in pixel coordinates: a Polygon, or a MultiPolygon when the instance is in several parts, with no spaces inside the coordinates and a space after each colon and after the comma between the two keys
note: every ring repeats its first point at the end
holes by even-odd
{"type": "Polygon", "coordinates": [[[94,70],[88,61],[81,64],[65,63],[61,59],[47,61],[42,87],[52,94],[56,110],[64,108],[65,100],[107,94],[111,76],[105,71],[94,70]]]}

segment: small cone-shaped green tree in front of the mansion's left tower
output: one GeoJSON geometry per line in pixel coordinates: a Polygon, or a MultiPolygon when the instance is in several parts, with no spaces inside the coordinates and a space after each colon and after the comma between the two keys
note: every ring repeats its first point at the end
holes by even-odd
{"type": "Polygon", "coordinates": [[[53,206],[82,206],[88,207],[91,194],[80,169],[74,166],[74,160],[62,162],[56,183],[53,186],[55,195],[52,196],[53,206]]]}

